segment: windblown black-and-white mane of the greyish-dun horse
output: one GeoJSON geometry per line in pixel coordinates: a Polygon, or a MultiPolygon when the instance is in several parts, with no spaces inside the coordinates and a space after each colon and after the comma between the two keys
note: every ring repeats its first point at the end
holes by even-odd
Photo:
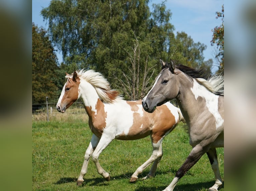
{"type": "Polygon", "coordinates": [[[199,84],[206,87],[209,91],[216,95],[224,95],[224,78],[222,75],[208,77],[204,69],[196,70],[184,65],[177,65],[177,69],[195,79],[199,84]]]}

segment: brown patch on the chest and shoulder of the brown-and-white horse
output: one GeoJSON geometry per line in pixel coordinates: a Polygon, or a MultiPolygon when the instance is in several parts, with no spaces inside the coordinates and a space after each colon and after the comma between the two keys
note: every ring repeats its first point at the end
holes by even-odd
{"type": "Polygon", "coordinates": [[[101,137],[104,128],[106,127],[107,112],[105,112],[103,102],[98,98],[95,105],[97,113],[92,111],[92,106],[85,106],[85,110],[89,116],[89,126],[91,131],[97,136],[101,137]]]}

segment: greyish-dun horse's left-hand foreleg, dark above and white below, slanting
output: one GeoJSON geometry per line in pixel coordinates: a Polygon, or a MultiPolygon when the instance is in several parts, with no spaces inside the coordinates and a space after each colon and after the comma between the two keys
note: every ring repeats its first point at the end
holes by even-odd
{"type": "Polygon", "coordinates": [[[196,145],[191,152],[189,153],[188,157],[186,158],[185,162],[182,166],[178,169],[175,174],[174,179],[171,181],[168,187],[166,187],[163,191],[173,191],[174,187],[178,183],[179,179],[184,176],[184,174],[196,164],[199,159],[203,156],[205,151],[203,151],[203,147],[198,144],[196,145]]]}

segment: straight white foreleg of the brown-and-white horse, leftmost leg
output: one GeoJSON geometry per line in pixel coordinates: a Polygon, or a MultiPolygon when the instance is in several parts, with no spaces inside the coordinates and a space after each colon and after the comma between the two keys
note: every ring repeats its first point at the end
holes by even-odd
{"type": "Polygon", "coordinates": [[[91,142],[88,148],[86,149],[84,163],[80,171],[80,175],[77,179],[78,186],[80,186],[84,182],[84,176],[87,173],[87,166],[89,163],[90,156],[92,155],[93,150],[96,148],[97,144],[99,143],[99,140],[100,139],[95,134],[93,134],[91,142]]]}

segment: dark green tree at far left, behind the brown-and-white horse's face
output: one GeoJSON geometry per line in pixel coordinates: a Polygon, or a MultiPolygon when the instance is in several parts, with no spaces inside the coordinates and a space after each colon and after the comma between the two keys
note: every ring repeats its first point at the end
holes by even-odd
{"type": "MultiPolygon", "coordinates": [[[[56,55],[43,28],[32,23],[32,103],[56,100],[59,79],[56,55]]],[[[63,84],[62,84],[63,86],[63,84]]]]}

